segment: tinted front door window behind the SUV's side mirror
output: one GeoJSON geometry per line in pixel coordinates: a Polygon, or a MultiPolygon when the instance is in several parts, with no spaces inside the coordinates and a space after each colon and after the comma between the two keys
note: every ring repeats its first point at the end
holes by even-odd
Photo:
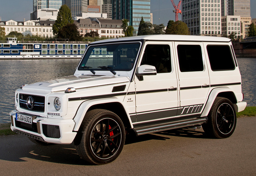
{"type": "Polygon", "coordinates": [[[152,65],[157,73],[170,73],[171,49],[168,44],[148,44],[145,48],[140,65],[152,65]]]}

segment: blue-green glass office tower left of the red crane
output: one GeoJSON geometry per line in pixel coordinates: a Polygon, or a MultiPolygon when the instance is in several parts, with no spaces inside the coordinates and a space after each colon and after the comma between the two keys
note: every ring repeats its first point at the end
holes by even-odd
{"type": "Polygon", "coordinates": [[[134,28],[133,35],[138,34],[140,19],[150,22],[150,0],[113,0],[112,19],[127,19],[134,28]]]}

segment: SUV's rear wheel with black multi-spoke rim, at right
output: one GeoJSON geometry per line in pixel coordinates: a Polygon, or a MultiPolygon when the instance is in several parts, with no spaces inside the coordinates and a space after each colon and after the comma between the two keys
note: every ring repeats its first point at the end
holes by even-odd
{"type": "Polygon", "coordinates": [[[208,122],[202,124],[204,132],[213,138],[228,138],[236,128],[236,111],[233,103],[217,97],[208,114],[208,122]]]}

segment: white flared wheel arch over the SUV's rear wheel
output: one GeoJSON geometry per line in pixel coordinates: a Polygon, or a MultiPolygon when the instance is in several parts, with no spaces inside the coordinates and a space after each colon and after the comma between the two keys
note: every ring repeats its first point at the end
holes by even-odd
{"type": "MultiPolygon", "coordinates": [[[[233,92],[234,93],[234,91],[232,89],[228,88],[228,87],[219,87],[219,88],[212,89],[212,91],[210,92],[210,95],[208,97],[208,100],[206,102],[206,105],[204,107],[204,110],[203,110],[203,113],[202,113],[201,117],[205,117],[209,114],[214,100],[216,99],[218,94],[221,93],[221,92],[233,92]]],[[[234,93],[234,96],[236,97],[235,93],[234,93]]],[[[236,100],[238,100],[237,97],[236,97],[236,100]]]]}

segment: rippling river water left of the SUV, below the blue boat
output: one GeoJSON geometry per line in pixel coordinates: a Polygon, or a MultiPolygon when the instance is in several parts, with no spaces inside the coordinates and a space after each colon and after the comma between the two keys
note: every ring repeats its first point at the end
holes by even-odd
{"type": "Polygon", "coordinates": [[[73,75],[80,59],[0,60],[0,123],[10,122],[15,90],[22,84],[73,75]]]}

